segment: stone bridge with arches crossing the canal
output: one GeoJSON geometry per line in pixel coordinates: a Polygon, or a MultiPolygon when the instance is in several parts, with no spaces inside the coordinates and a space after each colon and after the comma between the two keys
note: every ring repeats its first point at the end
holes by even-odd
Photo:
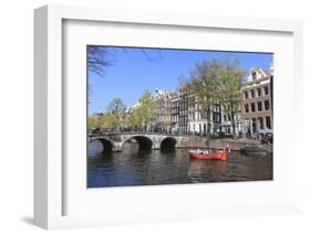
{"type": "Polygon", "coordinates": [[[125,142],[135,141],[139,149],[191,148],[207,146],[207,139],[198,136],[176,136],[167,133],[122,132],[89,135],[89,142],[99,140],[105,152],[122,151],[125,142]]]}

